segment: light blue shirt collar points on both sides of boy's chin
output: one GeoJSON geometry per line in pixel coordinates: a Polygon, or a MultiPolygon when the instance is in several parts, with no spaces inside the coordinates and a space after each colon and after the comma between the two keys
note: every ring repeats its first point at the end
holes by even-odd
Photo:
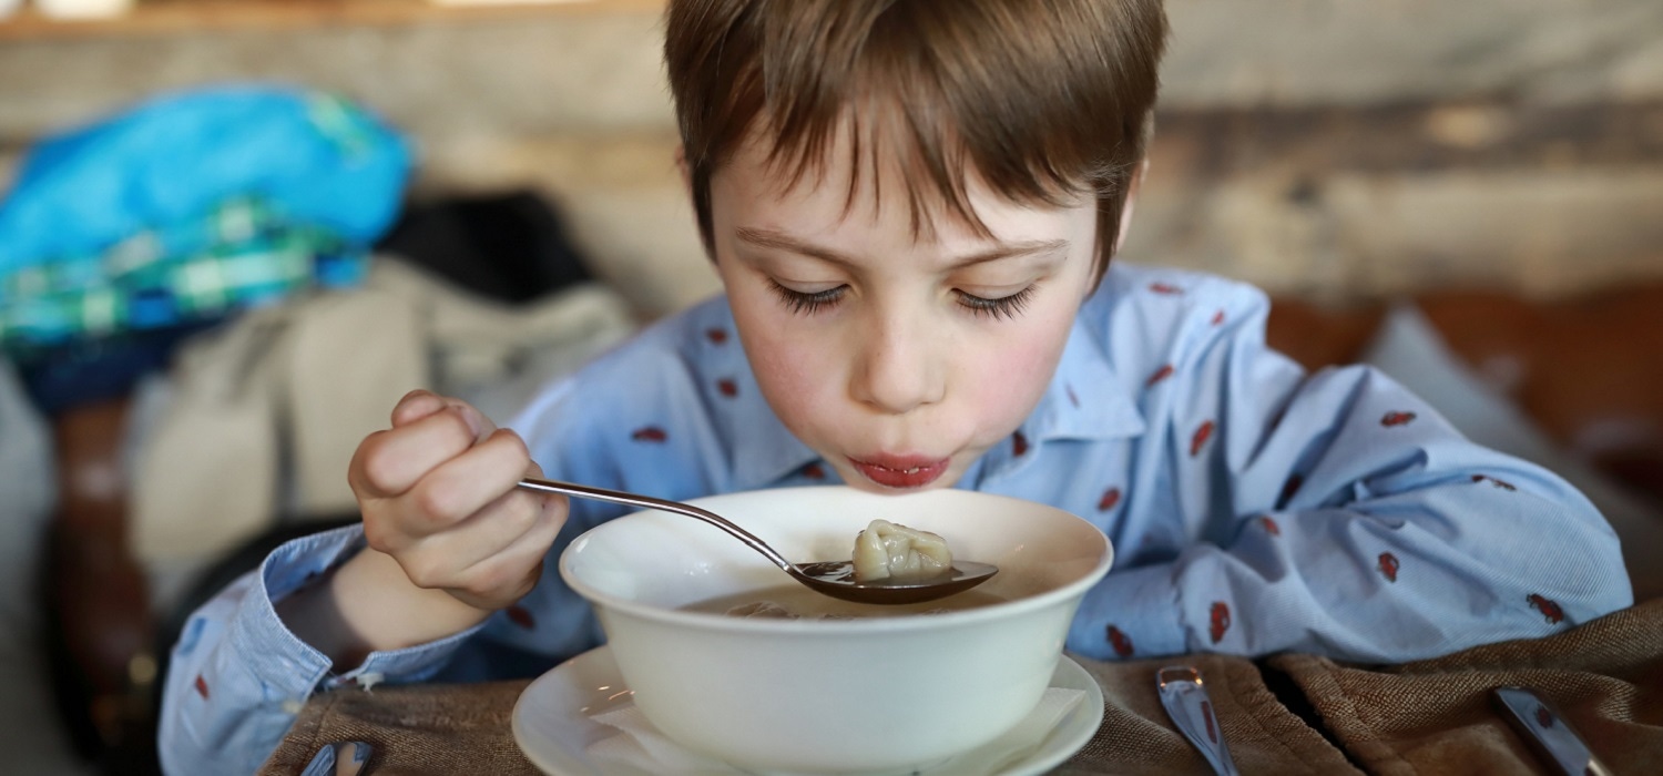
{"type": "MultiPolygon", "coordinates": [[[[722,309],[727,312],[725,304],[722,309]]],[[[732,326],[732,317],[727,319],[727,326],[732,326]]],[[[740,361],[747,361],[742,352],[738,356],[740,361]]],[[[1123,386],[1124,381],[1109,367],[1101,341],[1076,319],[1063,346],[1056,374],[1021,430],[1033,444],[1059,439],[1108,440],[1142,434],[1142,414],[1123,386]]],[[[773,407],[757,387],[748,361],[740,390],[750,400],[738,402],[730,415],[733,419],[730,432],[735,440],[735,490],[773,485],[820,460],[820,454],[798,440],[773,414],[773,407]]]]}

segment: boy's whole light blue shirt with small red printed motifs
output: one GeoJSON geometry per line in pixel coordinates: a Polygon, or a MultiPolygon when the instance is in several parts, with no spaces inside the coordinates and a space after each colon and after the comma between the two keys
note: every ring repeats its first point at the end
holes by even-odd
{"type": "MultiPolygon", "coordinates": [[[[1633,603],[1616,535],[1553,474],[1463,440],[1365,367],[1305,374],[1239,282],[1114,264],[1044,397],[958,487],[1051,503],[1114,542],[1068,648],[1093,658],[1279,650],[1395,663],[1535,638],[1633,603]]],[[[554,479],[665,499],[832,484],[762,399],[723,299],[642,332],[511,427],[554,479]]],[[[170,773],[248,773],[319,688],[534,675],[600,643],[559,552],[622,507],[574,500],[539,587],[479,628],[329,660],[273,602],[363,547],[278,548],[173,651],[170,773]]]]}

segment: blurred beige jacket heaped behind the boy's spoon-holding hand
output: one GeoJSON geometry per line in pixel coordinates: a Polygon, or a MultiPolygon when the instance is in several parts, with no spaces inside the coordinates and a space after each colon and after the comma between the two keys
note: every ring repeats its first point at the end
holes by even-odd
{"type": "Polygon", "coordinates": [[[249,311],[181,349],[163,409],[133,434],[133,552],[191,565],[279,517],[353,513],[353,450],[406,392],[471,399],[502,422],[634,327],[599,284],[507,307],[384,259],[359,289],[249,311]]]}

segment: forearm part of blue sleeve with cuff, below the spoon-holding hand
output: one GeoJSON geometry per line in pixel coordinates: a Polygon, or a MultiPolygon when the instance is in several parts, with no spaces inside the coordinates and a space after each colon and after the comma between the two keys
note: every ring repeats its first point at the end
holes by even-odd
{"type": "Polygon", "coordinates": [[[273,603],[363,547],[356,525],[296,538],[191,613],[163,686],[158,749],[165,773],[254,773],[313,691],[422,681],[481,628],[376,651],[351,671],[331,673],[329,658],[294,636],[273,603]]]}

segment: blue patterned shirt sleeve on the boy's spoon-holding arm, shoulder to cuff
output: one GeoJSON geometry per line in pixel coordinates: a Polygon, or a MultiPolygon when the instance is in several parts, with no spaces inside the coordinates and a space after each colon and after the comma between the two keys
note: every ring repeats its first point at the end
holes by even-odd
{"type": "MultiPolygon", "coordinates": [[[[725,311],[720,301],[702,307],[725,311]]],[[[579,374],[544,387],[504,427],[526,439],[545,475],[667,499],[730,489],[722,430],[698,366],[725,354],[743,364],[735,337],[698,311],[662,321],[579,374]],[[703,351],[700,351],[703,347],[703,351]]],[[[738,372],[735,372],[738,374],[738,372]]],[[[727,377],[727,372],[722,372],[727,377]]],[[[750,399],[750,384],[722,389],[750,399]]],[[[760,397],[755,399],[760,402],[760,397]]],[[[604,633],[587,602],[559,573],[560,552],[584,530],[629,508],[574,499],[537,587],[479,626],[444,640],[371,653],[331,675],[329,658],[294,636],[273,605],[364,547],[363,528],[279,547],[259,572],[221,592],[188,620],[163,688],[160,748],[168,773],[253,773],[278,746],[306,698],[341,685],[482,681],[540,673],[595,646],[604,633]]]]}

